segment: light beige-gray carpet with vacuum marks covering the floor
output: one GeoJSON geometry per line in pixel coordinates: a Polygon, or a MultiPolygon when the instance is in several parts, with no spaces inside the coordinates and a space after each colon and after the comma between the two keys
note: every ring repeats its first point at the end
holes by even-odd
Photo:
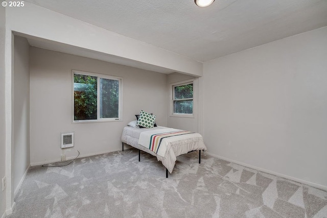
{"type": "Polygon", "coordinates": [[[327,217],[327,192],[198,153],[166,178],[138,151],[32,167],[9,217],[327,217]]]}

